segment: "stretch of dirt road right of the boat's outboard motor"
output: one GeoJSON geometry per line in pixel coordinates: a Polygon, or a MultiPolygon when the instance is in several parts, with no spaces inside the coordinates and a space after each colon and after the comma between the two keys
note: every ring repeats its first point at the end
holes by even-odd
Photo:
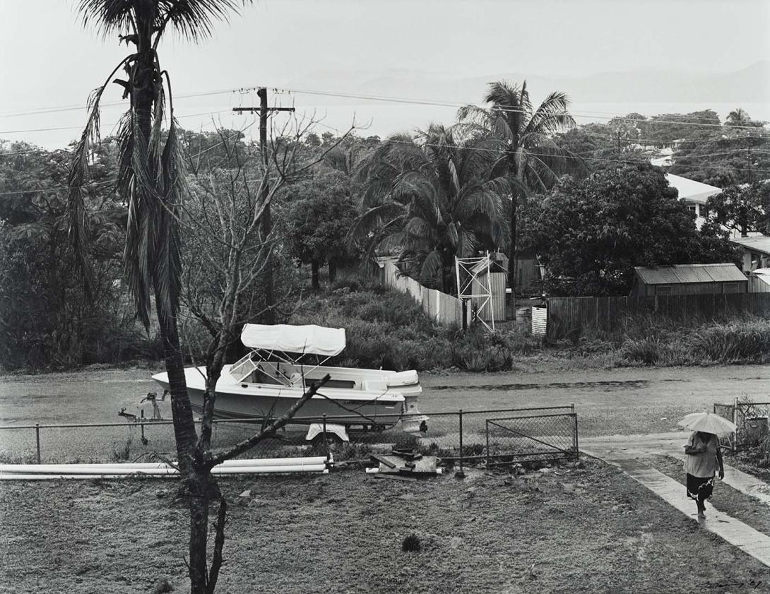
{"type": "Polygon", "coordinates": [[[736,396],[770,401],[770,366],[727,365],[586,372],[422,374],[420,409],[555,406],[574,402],[581,435],[678,431],[688,412],[736,396]]]}

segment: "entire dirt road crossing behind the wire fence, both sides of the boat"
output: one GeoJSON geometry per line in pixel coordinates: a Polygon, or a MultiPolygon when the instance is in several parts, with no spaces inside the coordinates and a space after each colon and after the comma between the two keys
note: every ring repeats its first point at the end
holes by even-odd
{"type": "MultiPolygon", "coordinates": [[[[158,389],[149,380],[151,373],[149,369],[92,369],[0,376],[0,425],[122,422],[117,415],[119,409],[136,412],[139,399],[158,389]]],[[[531,369],[486,374],[423,373],[420,377],[424,388],[420,410],[427,414],[460,408],[471,411],[574,402],[580,435],[585,437],[676,431],[681,416],[711,410],[714,402],[731,402],[736,396],[770,400],[768,365],[585,372],[531,369]]],[[[85,457],[97,446],[102,450],[121,446],[130,434],[126,426],[98,432],[45,429],[41,432],[42,449],[85,457]]],[[[138,435],[132,436],[136,443],[138,435]]],[[[170,427],[153,427],[152,437],[153,446],[172,444],[170,427]]],[[[32,430],[0,431],[0,453],[30,455],[34,451],[32,430]]],[[[110,456],[112,452],[100,454],[110,456]]]]}

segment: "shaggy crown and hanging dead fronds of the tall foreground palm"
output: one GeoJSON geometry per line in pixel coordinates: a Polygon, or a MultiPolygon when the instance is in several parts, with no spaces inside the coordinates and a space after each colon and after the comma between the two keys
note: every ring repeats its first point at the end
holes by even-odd
{"type": "Polygon", "coordinates": [[[129,208],[126,271],[139,318],[149,325],[151,289],[156,289],[159,314],[176,314],[179,295],[179,232],[176,210],[185,191],[179,155],[178,125],[173,115],[169,73],[159,61],[158,44],[167,29],[196,41],[210,34],[213,21],[242,5],[233,0],[81,0],[77,9],[84,25],[103,35],[116,33],[133,45],[89,97],[89,116],[69,174],[71,233],[79,262],[89,279],[85,261],[85,187],[89,157],[99,142],[99,103],[110,82],[123,89],[129,109],[122,116],[119,138],[117,191],[129,208]],[[125,79],[112,77],[123,71],[125,79]],[[164,84],[165,83],[165,84],[164,84]],[[166,106],[168,100],[168,106],[166,106]],[[169,128],[162,130],[164,120],[169,128]]]}

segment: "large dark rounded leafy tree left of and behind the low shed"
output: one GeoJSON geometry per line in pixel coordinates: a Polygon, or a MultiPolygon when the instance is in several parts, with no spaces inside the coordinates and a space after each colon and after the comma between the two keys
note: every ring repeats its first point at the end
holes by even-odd
{"type": "Polygon", "coordinates": [[[634,266],[730,262],[735,250],[693,215],[651,165],[567,178],[527,207],[524,247],[546,266],[549,291],[628,294],[634,266]]]}

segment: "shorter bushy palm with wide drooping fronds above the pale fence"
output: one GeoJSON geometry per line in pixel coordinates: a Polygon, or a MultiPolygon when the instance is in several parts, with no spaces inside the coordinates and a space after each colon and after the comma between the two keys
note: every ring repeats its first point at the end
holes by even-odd
{"type": "Polygon", "coordinates": [[[431,125],[416,138],[387,138],[360,165],[360,218],[350,232],[376,253],[399,256],[415,279],[454,287],[454,257],[494,249],[506,239],[500,197],[508,180],[494,175],[496,152],[487,139],[455,138],[457,131],[431,125]]]}

